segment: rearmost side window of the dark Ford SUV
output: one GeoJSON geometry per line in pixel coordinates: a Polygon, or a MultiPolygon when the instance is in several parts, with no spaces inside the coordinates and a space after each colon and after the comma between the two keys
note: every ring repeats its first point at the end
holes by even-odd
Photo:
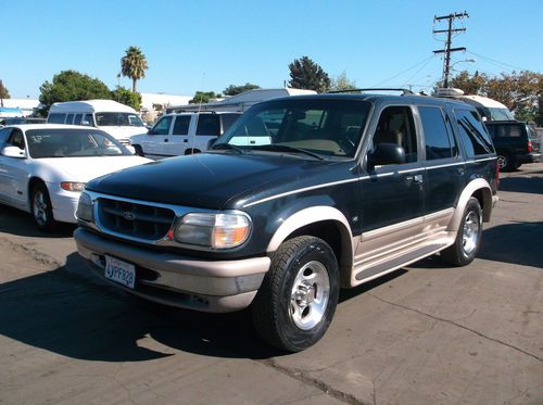
{"type": "Polygon", "coordinates": [[[484,129],[481,118],[475,111],[455,110],[456,122],[460,134],[462,143],[468,157],[494,152],[494,145],[484,129]]]}

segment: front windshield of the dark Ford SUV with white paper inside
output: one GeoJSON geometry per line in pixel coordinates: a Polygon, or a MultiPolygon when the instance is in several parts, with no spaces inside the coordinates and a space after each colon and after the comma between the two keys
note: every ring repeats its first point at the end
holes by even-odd
{"type": "Polygon", "coordinates": [[[268,101],[245,112],[216,145],[226,149],[219,144],[229,143],[245,151],[269,153],[296,153],[298,149],[324,156],[353,157],[369,107],[362,100],[268,101]]]}

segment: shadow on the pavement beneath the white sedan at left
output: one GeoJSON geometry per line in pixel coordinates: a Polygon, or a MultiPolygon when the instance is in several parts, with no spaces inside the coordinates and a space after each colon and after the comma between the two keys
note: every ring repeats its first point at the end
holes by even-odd
{"type": "Polygon", "coordinates": [[[56,224],[51,232],[39,230],[29,213],[0,204],[0,232],[33,238],[70,238],[76,228],[75,224],[56,224]]]}

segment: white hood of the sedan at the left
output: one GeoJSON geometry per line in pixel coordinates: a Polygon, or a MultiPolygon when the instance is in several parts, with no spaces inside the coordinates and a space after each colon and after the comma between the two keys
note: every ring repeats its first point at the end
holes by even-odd
{"type": "Polygon", "coordinates": [[[34,162],[60,172],[66,181],[88,182],[96,177],[152,161],[140,156],[97,156],[47,157],[34,162]]]}

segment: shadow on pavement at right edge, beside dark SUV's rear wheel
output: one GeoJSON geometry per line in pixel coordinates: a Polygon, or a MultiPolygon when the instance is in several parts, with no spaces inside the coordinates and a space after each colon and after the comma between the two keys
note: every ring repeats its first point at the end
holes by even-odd
{"type": "MultiPolygon", "coordinates": [[[[540,210],[541,207],[534,207],[540,210]]],[[[543,267],[543,223],[509,223],[483,232],[478,257],[488,261],[543,267]]]]}

